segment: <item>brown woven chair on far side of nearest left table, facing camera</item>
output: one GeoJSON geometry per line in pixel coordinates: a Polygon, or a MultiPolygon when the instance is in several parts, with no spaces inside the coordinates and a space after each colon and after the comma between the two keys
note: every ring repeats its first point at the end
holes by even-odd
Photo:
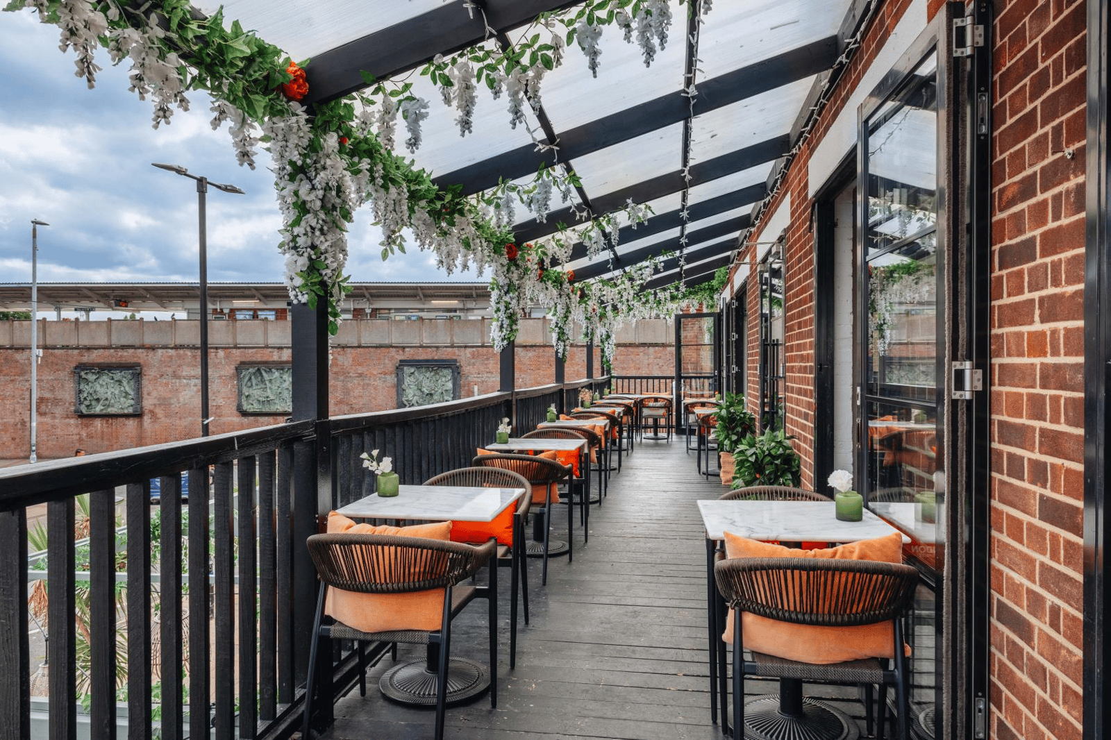
{"type": "Polygon", "coordinates": [[[459,468],[433,476],[426,486],[469,486],[480,488],[523,488],[513,512],[513,543],[498,544],[498,568],[510,568],[509,579],[509,667],[517,668],[517,593],[524,603],[524,623],[529,623],[529,570],[524,561],[524,521],[532,506],[532,487],[520,473],[500,468],[459,468]]]}

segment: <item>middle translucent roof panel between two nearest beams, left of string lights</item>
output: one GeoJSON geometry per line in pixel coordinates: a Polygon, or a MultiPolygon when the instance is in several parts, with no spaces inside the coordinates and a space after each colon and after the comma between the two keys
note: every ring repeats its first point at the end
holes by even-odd
{"type": "Polygon", "coordinates": [[[544,76],[540,87],[544,112],[556,131],[565,131],[678,92],[682,87],[687,56],[682,23],[683,18],[677,13],[668,46],[657,51],[649,68],[644,67],[640,48],[625,43],[620,29],[603,27],[597,78],[591,74],[578,41],[572,42],[564,50],[563,63],[544,76]]]}

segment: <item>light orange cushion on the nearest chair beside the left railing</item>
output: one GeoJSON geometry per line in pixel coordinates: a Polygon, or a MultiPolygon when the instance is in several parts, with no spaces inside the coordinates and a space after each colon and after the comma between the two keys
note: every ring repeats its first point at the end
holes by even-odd
{"type": "MultiPolygon", "coordinates": [[[[328,531],[351,534],[397,534],[423,537],[430,540],[451,539],[451,522],[413,527],[357,524],[343,514],[328,514],[328,531]]],[[[399,581],[413,580],[419,572],[398,573],[399,581]]],[[[438,630],[443,618],[443,589],[411,591],[409,593],[359,593],[329,588],[324,613],[348,627],[363,632],[392,630],[438,630]]]]}

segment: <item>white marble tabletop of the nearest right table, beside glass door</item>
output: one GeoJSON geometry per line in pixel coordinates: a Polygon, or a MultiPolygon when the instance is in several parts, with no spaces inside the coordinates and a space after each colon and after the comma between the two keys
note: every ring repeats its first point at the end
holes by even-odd
{"type": "MultiPolygon", "coordinates": [[[[864,511],[862,521],[839,521],[833,501],[698,501],[711,540],[732,532],[752,540],[785,542],[855,542],[883,537],[899,530],[864,511]]],[[[903,536],[904,541],[910,541],[903,536]]]]}

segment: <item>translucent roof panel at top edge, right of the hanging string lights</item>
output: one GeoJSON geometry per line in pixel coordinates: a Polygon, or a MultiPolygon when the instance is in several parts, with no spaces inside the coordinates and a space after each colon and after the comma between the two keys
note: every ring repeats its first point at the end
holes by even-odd
{"type": "Polygon", "coordinates": [[[835,36],[850,4],[852,0],[715,2],[699,33],[699,79],[714,78],[835,36]]]}

